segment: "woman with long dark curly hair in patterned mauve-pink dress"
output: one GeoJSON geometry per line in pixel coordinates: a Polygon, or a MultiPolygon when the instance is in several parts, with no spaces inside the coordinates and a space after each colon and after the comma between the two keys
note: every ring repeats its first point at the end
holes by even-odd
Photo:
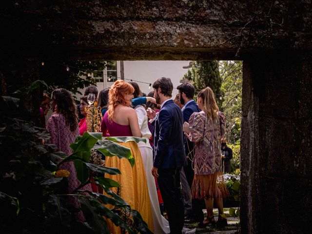
{"type": "MultiPolygon", "coordinates": [[[[53,114],[49,118],[46,128],[50,133],[49,143],[55,144],[58,149],[66,155],[72,154],[69,147],[79,134],[78,131],[78,115],[76,104],[72,95],[66,89],[56,89],[51,94],[51,105],[53,114]]],[[[74,162],[64,162],[60,164],[59,170],[67,170],[70,172],[68,179],[68,193],[73,192],[80,186],[77,178],[74,162]]],[[[90,184],[85,185],[81,190],[91,190],[90,184]]],[[[70,202],[79,207],[79,201],[75,197],[70,197],[70,202]]],[[[75,214],[78,221],[84,221],[82,212],[75,214]]]]}

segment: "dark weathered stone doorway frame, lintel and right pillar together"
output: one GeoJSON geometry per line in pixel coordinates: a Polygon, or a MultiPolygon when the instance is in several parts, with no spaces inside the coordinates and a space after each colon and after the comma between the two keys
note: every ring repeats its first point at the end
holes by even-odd
{"type": "Polygon", "coordinates": [[[11,85],[33,79],[42,58],[244,60],[242,233],[308,233],[303,224],[312,210],[310,1],[1,5],[1,29],[8,32],[1,72],[10,68],[23,75],[20,83],[4,77],[11,85]]]}

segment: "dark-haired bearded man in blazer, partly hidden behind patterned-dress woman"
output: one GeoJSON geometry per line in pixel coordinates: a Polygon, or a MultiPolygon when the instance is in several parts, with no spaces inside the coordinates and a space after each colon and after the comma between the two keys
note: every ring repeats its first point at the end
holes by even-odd
{"type": "MultiPolygon", "coordinates": [[[[183,123],[189,122],[189,119],[194,112],[200,112],[197,103],[193,100],[195,88],[190,83],[183,83],[177,86],[177,90],[179,91],[180,103],[181,105],[184,105],[182,107],[183,123]]],[[[189,186],[190,188],[192,188],[194,178],[194,170],[192,167],[192,161],[195,154],[194,143],[189,141],[185,136],[183,137],[183,141],[185,154],[187,157],[187,164],[184,166],[183,169],[189,186]]],[[[186,217],[185,221],[189,220],[189,222],[202,222],[202,220],[204,220],[204,213],[202,209],[203,201],[192,198],[191,214],[186,217]]]]}

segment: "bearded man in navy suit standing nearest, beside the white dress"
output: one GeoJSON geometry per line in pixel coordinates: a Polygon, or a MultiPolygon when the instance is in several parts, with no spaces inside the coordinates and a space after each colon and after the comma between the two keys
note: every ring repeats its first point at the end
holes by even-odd
{"type": "Polygon", "coordinates": [[[160,193],[167,211],[170,234],[181,234],[184,224],[184,207],[180,187],[180,170],[185,163],[183,147],[183,117],[181,109],[171,99],[173,84],[170,78],[159,78],[154,84],[154,98],[161,104],[154,121],[154,163],[152,174],[157,178],[160,193]]]}

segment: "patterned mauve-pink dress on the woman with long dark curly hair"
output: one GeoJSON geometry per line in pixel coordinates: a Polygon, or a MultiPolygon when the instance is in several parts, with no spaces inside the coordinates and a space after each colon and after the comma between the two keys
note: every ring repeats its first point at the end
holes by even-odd
{"type": "MultiPolygon", "coordinates": [[[[71,155],[73,151],[69,146],[79,135],[78,127],[74,131],[71,131],[70,126],[66,124],[65,117],[62,114],[53,114],[49,118],[46,128],[51,136],[49,143],[55,144],[58,147],[57,151],[64,152],[67,156],[71,155]]],[[[59,166],[58,169],[67,170],[70,172],[70,175],[67,178],[68,193],[73,192],[80,186],[81,183],[77,178],[74,162],[64,162],[59,166]]],[[[92,191],[91,185],[87,184],[82,187],[81,190],[92,191]]],[[[70,202],[77,207],[80,206],[78,199],[75,197],[70,197],[70,202]]],[[[76,213],[75,215],[78,221],[85,220],[82,212],[76,213]]]]}

